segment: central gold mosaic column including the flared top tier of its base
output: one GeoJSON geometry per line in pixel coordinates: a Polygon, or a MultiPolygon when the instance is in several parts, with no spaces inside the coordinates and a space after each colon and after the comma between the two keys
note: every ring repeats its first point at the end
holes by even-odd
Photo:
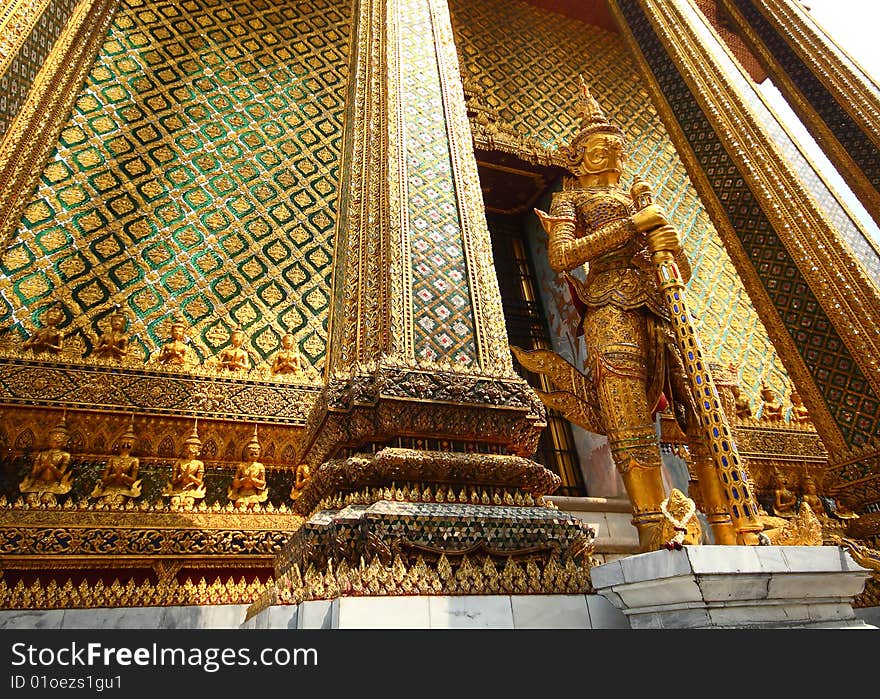
{"type": "Polygon", "coordinates": [[[356,12],[328,386],[302,457],[531,455],[543,410],[512,368],[446,3],[356,12]]]}

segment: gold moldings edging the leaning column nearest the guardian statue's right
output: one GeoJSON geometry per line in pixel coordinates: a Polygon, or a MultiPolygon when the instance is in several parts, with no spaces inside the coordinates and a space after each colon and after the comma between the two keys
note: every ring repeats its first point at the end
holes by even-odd
{"type": "MultiPolygon", "coordinates": [[[[712,122],[731,159],[741,172],[752,178],[750,187],[760,197],[762,209],[780,232],[780,238],[788,246],[792,259],[877,391],[880,365],[876,363],[877,340],[870,330],[880,309],[876,287],[864,276],[858,262],[839,249],[835,231],[776,152],[742,96],[725,77],[723,67],[717,64],[708,49],[701,46],[688,19],[677,8],[666,3],[643,2],[639,6],[651,19],[666,51],[675,57],[677,69],[712,122]],[[793,207],[792,202],[797,202],[797,206],[793,207]],[[853,296],[856,288],[860,290],[858,299],[853,296]]],[[[624,38],[643,71],[670,137],[687,165],[786,369],[804,397],[823,441],[828,448],[844,448],[846,442],[839,426],[831,416],[799,348],[746,254],[638,43],[627,29],[619,3],[614,2],[611,7],[618,23],[624,28],[624,38]]]]}

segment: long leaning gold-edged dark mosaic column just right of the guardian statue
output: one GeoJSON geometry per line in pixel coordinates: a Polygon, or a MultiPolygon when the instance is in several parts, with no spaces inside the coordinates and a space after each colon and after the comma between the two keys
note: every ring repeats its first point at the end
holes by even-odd
{"type": "Polygon", "coordinates": [[[610,6],[832,461],[869,443],[880,431],[880,292],[700,41],[692,8],[610,6]]]}

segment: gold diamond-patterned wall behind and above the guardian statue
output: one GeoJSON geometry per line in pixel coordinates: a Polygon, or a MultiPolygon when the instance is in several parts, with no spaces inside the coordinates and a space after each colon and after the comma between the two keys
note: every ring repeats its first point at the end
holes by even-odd
{"type": "Polygon", "coordinates": [[[787,396],[788,375],[620,37],[519,0],[451,0],[450,10],[463,72],[475,76],[503,121],[546,147],[577,132],[577,75],[584,74],[627,135],[630,178],[654,186],[682,236],[694,271],[688,298],[708,359],[740,366],[755,406],[762,377],[787,396]]]}

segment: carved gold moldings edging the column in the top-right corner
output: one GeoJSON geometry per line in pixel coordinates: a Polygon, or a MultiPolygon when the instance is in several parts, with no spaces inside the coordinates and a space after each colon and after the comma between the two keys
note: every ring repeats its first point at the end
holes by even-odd
{"type": "MultiPolygon", "coordinates": [[[[868,213],[875,221],[880,222],[880,192],[877,187],[871,183],[847,148],[840,143],[809,99],[795,85],[776,56],[737,8],[737,3],[733,0],[722,0],[722,6],[736,23],[740,36],[760,59],[762,66],[785,95],[804,126],[813,134],[816,143],[835,164],[868,213]]],[[[776,32],[785,37],[788,45],[810,67],[816,79],[834,96],[840,108],[880,148],[880,129],[877,126],[880,123],[880,96],[877,92],[871,90],[862,76],[835,55],[834,50],[826,43],[830,39],[820,36],[809,24],[806,15],[794,7],[793,3],[763,0],[756,2],[755,7],[773,25],[776,32]]],[[[873,247],[876,249],[876,245],[873,247]]]]}

